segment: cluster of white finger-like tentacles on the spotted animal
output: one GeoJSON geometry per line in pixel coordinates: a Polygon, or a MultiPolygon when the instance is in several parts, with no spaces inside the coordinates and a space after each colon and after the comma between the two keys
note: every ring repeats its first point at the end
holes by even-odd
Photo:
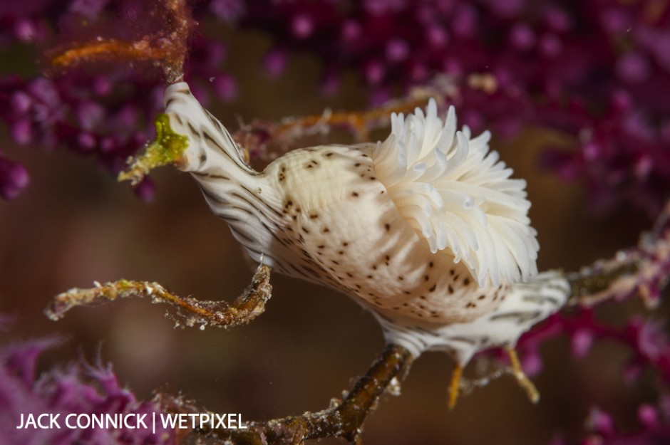
{"type": "Polygon", "coordinates": [[[489,150],[490,132],[470,139],[446,122],[435,100],[426,115],[391,115],[391,135],[373,151],[377,177],[431,251],[463,261],[480,286],[526,281],[537,273],[537,232],[530,226],[526,182],[489,150]]]}

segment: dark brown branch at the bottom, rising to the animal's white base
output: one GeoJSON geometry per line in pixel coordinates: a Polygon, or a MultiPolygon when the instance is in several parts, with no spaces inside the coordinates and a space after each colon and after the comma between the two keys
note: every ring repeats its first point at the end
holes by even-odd
{"type": "Polygon", "coordinates": [[[306,439],[341,437],[360,444],[366,416],[386,390],[397,394],[397,385],[411,366],[412,355],[404,347],[388,345],[344,400],[333,400],[321,412],[249,422],[247,429],[205,429],[197,431],[222,443],[235,445],[297,445],[306,439]]]}

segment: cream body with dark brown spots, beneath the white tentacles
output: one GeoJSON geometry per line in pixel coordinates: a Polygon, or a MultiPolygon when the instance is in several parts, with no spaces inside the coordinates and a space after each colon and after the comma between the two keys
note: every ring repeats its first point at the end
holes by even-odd
{"type": "Polygon", "coordinates": [[[502,289],[479,288],[453,256],[431,253],[376,179],[368,153],[295,150],[264,171],[267,187],[280,191],[275,233],[291,256],[282,271],[339,288],[390,318],[454,323],[490,311],[502,289]]]}

